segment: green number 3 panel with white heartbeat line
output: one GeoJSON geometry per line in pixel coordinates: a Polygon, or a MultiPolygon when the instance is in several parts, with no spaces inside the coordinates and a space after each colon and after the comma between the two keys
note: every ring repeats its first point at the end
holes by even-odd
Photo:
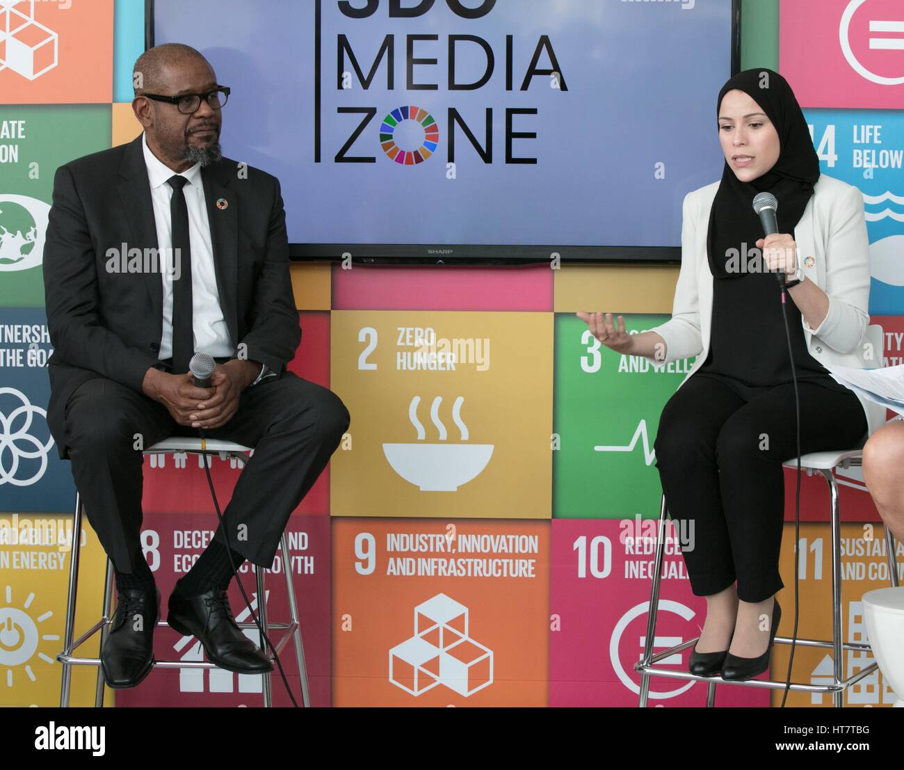
{"type": "MultiPolygon", "coordinates": [[[[625,325],[644,331],[668,318],[626,315],[625,325]]],[[[659,416],[694,359],[655,371],[645,359],[602,344],[593,351],[596,344],[576,315],[556,314],[553,430],[560,447],[552,453],[553,518],[658,517],[662,487],[652,455],[659,416]],[[619,371],[632,364],[635,371],[619,371]],[[630,451],[594,448],[632,442],[630,451]]]]}

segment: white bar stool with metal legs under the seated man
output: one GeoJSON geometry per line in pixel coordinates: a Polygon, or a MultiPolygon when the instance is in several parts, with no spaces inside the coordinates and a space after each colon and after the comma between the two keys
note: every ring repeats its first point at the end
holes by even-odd
{"type": "MultiPolygon", "coordinates": [[[[204,455],[205,452],[208,457],[212,455],[212,453],[217,453],[220,455],[221,460],[226,460],[230,458],[234,460],[239,467],[244,467],[245,463],[248,461],[247,455],[244,453],[250,452],[250,447],[241,446],[240,444],[235,444],[231,441],[223,441],[217,438],[193,438],[193,437],[170,437],[165,438],[163,441],[158,442],[154,446],[149,446],[144,450],[145,455],[204,455]]],[[[203,461],[201,461],[203,462],[203,461]]],[[[210,459],[207,459],[206,462],[210,464],[210,459]]],[[[87,666],[97,666],[98,667],[98,685],[97,692],[95,695],[94,705],[97,708],[103,706],[103,698],[104,698],[104,677],[103,671],[100,669],[100,658],[84,658],[79,657],[74,654],[75,650],[80,647],[83,643],[87,642],[91,636],[96,634],[98,631],[100,632],[100,646],[98,650],[101,649],[103,643],[107,639],[108,634],[108,626],[110,624],[111,617],[113,613],[111,612],[111,600],[113,595],[113,564],[110,559],[107,559],[107,577],[104,581],[104,599],[103,599],[103,616],[100,620],[92,625],[87,632],[82,634],[77,640],[73,642],[73,635],[75,631],[75,606],[76,606],[76,595],[78,593],[78,576],[79,576],[79,554],[80,554],[80,538],[81,538],[81,519],[83,515],[84,509],[81,504],[81,498],[79,493],[75,495],[75,512],[72,516],[72,554],[71,554],[71,563],[69,569],[69,592],[66,599],[66,625],[65,631],[63,634],[63,649],[62,652],[56,656],[56,659],[62,664],[62,680],[60,686],[60,706],[62,708],[66,708],[69,706],[70,701],[70,690],[71,690],[71,666],[73,665],[87,665],[87,666]]],[[[218,522],[219,524],[219,522],[218,522]]],[[[298,606],[295,597],[295,587],[292,585],[292,572],[291,572],[291,561],[289,560],[288,554],[288,546],[286,540],[286,533],[283,532],[282,538],[279,540],[280,549],[282,552],[283,559],[283,575],[286,577],[286,593],[288,597],[288,608],[290,620],[289,623],[268,623],[267,620],[267,607],[266,607],[266,599],[267,596],[266,591],[264,590],[264,568],[255,565],[255,574],[257,577],[257,590],[259,596],[258,602],[258,616],[260,620],[260,624],[264,629],[264,632],[269,635],[271,630],[281,630],[285,633],[280,637],[278,643],[274,643],[274,647],[276,649],[276,653],[279,653],[282,648],[286,645],[289,637],[291,636],[295,643],[295,654],[298,664],[298,674],[301,678],[301,691],[302,691],[302,699],[304,701],[305,707],[309,707],[311,705],[310,702],[310,693],[308,690],[307,684],[307,669],[305,665],[305,649],[301,639],[301,628],[298,625],[298,606]]],[[[162,610],[163,608],[161,608],[162,610]]],[[[164,620],[160,620],[157,622],[157,626],[165,626],[166,623],[164,620]]],[[[257,629],[257,625],[254,623],[238,623],[238,626],[241,629],[246,628],[254,628],[257,629]]],[[[265,650],[265,642],[263,638],[260,638],[259,647],[262,650],[265,650]]],[[[268,653],[268,657],[270,661],[273,661],[273,653],[268,653]]],[[[208,662],[208,661],[160,661],[157,660],[154,663],[155,668],[167,668],[167,669],[215,669],[217,668],[216,663],[208,662]]],[[[272,708],[273,706],[273,690],[271,683],[271,674],[272,671],[266,671],[261,674],[263,677],[263,705],[265,708],[272,708]]]]}

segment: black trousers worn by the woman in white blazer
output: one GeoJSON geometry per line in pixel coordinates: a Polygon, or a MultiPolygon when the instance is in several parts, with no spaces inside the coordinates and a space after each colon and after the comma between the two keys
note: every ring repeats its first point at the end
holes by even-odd
{"type": "MultiPolygon", "coordinates": [[[[862,446],[869,427],[852,390],[797,387],[801,454],[862,446]]],[[[682,552],[693,593],[737,580],[739,599],[761,602],[784,587],[782,463],[797,456],[795,393],[793,383],[740,392],[693,374],[666,403],[654,449],[670,517],[689,535],[682,552]]]]}

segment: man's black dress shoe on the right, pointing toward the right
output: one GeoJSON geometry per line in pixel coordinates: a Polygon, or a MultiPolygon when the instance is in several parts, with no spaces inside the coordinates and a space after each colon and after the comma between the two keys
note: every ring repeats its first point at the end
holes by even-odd
{"type": "Polygon", "coordinates": [[[196,636],[208,659],[221,669],[250,674],[273,671],[267,655],[241,633],[222,588],[185,597],[176,585],[170,594],[166,622],[180,634],[196,636]]]}

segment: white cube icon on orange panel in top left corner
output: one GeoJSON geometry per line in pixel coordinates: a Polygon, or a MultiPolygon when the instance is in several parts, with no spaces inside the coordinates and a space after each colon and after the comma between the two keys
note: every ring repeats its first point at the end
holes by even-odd
{"type": "Polygon", "coordinates": [[[59,35],[34,18],[34,0],[0,0],[0,69],[28,80],[59,61],[59,35]]]}

